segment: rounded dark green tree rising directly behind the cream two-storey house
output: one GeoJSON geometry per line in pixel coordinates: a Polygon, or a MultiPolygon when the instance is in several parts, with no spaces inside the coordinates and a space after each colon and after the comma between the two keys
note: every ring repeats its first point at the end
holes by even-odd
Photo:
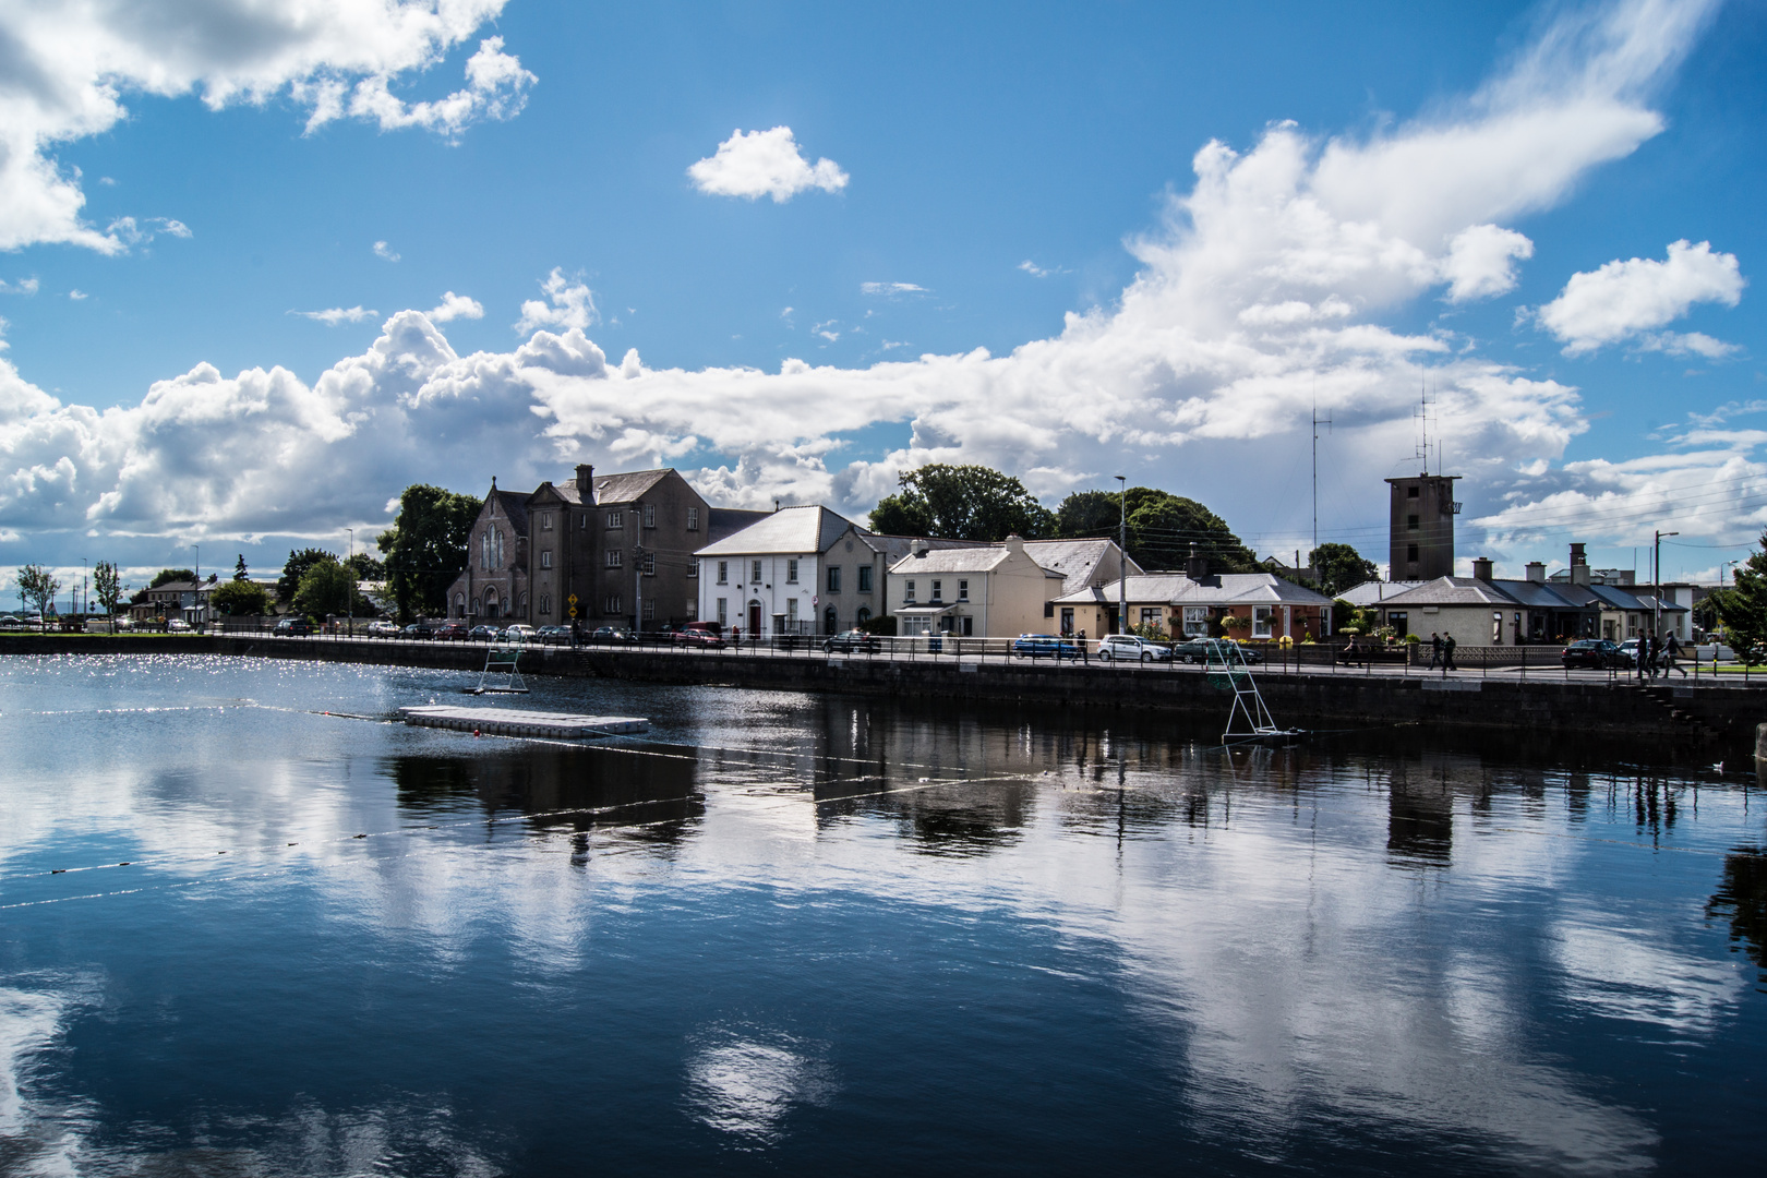
{"type": "Polygon", "coordinates": [[[901,491],[885,495],[871,528],[887,535],[940,535],[998,542],[1009,535],[1055,535],[1055,514],[1011,475],[988,466],[935,463],[903,472],[901,491]]]}

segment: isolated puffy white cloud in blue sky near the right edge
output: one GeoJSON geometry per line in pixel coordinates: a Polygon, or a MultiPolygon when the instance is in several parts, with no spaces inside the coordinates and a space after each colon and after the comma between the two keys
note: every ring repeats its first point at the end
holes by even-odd
{"type": "MultiPolygon", "coordinates": [[[[1735,254],[1712,253],[1710,242],[1672,242],[1663,261],[1615,260],[1599,270],[1573,274],[1564,291],[1539,309],[1539,321],[1564,341],[1566,355],[1580,355],[1673,323],[1698,302],[1733,307],[1742,298],[1742,284],[1735,254]]],[[[1687,337],[1659,339],[1656,346],[1707,350],[1687,337]]]]}

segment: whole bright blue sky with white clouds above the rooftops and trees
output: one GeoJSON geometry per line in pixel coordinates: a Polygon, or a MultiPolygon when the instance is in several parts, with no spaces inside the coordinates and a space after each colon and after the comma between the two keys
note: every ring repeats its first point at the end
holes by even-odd
{"type": "Polygon", "coordinates": [[[1122,472],[1292,551],[1315,390],[1380,560],[1421,383],[1463,560],[1767,523],[1760,5],[168,7],[0,18],[7,567],[269,569],[576,461],[1122,472]]]}

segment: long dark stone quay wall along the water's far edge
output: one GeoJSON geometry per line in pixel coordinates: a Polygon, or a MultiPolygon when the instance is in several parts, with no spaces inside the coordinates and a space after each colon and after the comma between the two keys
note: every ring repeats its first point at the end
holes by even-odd
{"type": "MultiPolygon", "coordinates": [[[[217,653],[452,671],[484,668],[484,648],[477,645],[270,636],[0,636],[0,655],[5,653],[217,653]]],[[[1131,708],[1179,714],[1200,722],[1209,717],[1225,722],[1232,703],[1228,692],[1212,689],[1205,675],[1189,668],[537,646],[523,655],[523,673],[959,703],[1131,708]]],[[[1725,756],[1733,751],[1746,758],[1755,752],[1755,729],[1767,715],[1767,678],[1760,687],[1677,680],[1647,691],[1629,680],[1285,675],[1279,668],[1260,669],[1256,676],[1276,721],[1309,729],[1412,724],[1426,729],[1500,729],[1546,740],[1555,735],[1613,735],[1677,751],[1718,749],[1725,756]]]]}

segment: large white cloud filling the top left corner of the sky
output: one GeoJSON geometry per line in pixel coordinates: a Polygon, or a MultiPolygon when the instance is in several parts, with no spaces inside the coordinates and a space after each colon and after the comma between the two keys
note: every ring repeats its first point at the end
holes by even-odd
{"type": "MultiPolygon", "coordinates": [[[[288,95],[307,108],[307,131],[364,118],[454,138],[474,122],[509,118],[535,78],[500,37],[481,42],[466,87],[444,99],[406,102],[391,90],[465,44],[504,2],[0,5],[0,249],[62,242],[113,254],[131,245],[131,231],[145,231],[127,217],[104,231],[87,223],[78,170],[51,155],[58,143],[115,127],[131,94],[196,94],[210,109],[288,95]]],[[[157,231],[189,233],[177,221],[159,221],[157,231]]]]}

